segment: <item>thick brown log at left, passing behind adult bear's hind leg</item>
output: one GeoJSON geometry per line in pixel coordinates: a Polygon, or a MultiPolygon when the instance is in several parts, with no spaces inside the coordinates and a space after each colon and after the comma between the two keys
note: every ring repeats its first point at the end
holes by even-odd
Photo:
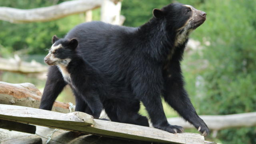
{"type": "MultiPolygon", "coordinates": [[[[39,108],[41,95],[41,92],[30,83],[10,84],[0,82],[0,104],[39,108]]],[[[62,113],[70,112],[69,104],[62,102],[54,102],[52,110],[62,113]]],[[[74,108],[72,108],[72,111],[74,111],[74,108]]]]}

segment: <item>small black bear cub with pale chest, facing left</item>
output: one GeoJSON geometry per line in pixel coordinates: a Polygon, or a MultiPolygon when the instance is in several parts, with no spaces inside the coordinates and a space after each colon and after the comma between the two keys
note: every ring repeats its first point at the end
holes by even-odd
{"type": "MultiPolygon", "coordinates": [[[[91,110],[88,113],[94,118],[99,118],[104,108],[112,121],[149,126],[148,119],[138,114],[140,101],[134,98],[135,95],[126,87],[108,82],[108,78],[84,60],[76,39],[53,36],[52,43],[44,61],[50,66],[57,66],[65,83],[72,88],[76,96],[76,111],[85,112],[85,104],[88,104],[91,110]],[[119,113],[122,115],[117,116],[119,113]]],[[[83,46],[80,44],[80,47],[83,46]]]]}

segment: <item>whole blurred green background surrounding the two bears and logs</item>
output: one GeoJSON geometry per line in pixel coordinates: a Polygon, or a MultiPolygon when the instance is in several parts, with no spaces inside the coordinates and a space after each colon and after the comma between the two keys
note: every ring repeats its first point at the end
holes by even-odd
{"type": "MultiPolygon", "coordinates": [[[[65,0],[0,0],[0,6],[38,8],[65,0]]],[[[125,26],[140,26],[152,17],[154,8],[162,8],[171,0],[123,0],[121,14],[125,26]]],[[[178,0],[207,12],[207,20],[190,36],[200,42],[197,49],[184,54],[182,68],[186,89],[198,114],[236,114],[256,111],[256,0],[178,0]]],[[[77,14],[50,22],[12,24],[0,21],[0,57],[18,54],[22,60],[43,63],[54,34],[63,37],[71,28],[84,22],[77,14]]],[[[100,20],[100,9],[93,10],[100,20]]],[[[0,72],[0,81],[31,82],[39,89],[45,80],[33,76],[0,72]]],[[[70,90],[58,97],[74,102],[70,90]]],[[[164,104],[167,117],[178,116],[164,104]]],[[[146,115],[142,108],[141,113],[146,115]]],[[[196,130],[186,130],[196,132],[196,130]]],[[[256,128],[220,130],[216,138],[207,140],[222,144],[256,144],[256,128]]]]}

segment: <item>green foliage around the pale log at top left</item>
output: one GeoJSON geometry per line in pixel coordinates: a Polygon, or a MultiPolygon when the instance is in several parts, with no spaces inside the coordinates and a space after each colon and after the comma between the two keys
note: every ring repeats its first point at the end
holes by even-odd
{"type": "MultiPolygon", "coordinates": [[[[13,8],[38,8],[51,6],[56,0],[4,0],[1,6],[13,8]]],[[[58,0],[58,3],[63,0],[58,0]]],[[[84,22],[84,14],[73,15],[50,22],[35,22],[12,24],[0,21],[0,44],[3,46],[0,54],[11,54],[20,51],[21,54],[45,54],[50,48],[51,38],[54,34],[63,37],[75,25],[84,22]]]]}

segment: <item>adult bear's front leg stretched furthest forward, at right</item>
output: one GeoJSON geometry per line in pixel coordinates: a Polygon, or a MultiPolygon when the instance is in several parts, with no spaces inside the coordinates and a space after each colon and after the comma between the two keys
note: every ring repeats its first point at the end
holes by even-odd
{"type": "MultiPolygon", "coordinates": [[[[174,66],[174,65],[172,65],[174,66]]],[[[176,65],[179,66],[179,65],[176,65]]],[[[171,68],[164,72],[164,100],[176,110],[180,116],[195,126],[202,135],[210,133],[208,126],[198,116],[188,94],[184,89],[184,81],[179,68],[171,68]],[[175,71],[174,71],[175,70],[175,71]]]]}

